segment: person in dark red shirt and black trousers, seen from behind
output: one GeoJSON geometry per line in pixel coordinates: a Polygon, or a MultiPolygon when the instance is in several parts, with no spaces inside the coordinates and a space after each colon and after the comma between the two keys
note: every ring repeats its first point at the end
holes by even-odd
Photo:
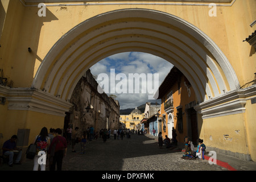
{"type": "Polygon", "coordinates": [[[55,171],[57,164],[57,171],[61,171],[63,158],[67,154],[67,140],[62,137],[62,130],[56,129],[56,137],[52,139],[52,143],[49,147],[49,169],[55,171]]]}

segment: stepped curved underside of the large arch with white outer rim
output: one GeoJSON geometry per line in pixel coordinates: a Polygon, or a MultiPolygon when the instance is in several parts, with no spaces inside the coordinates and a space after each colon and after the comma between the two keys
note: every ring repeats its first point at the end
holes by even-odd
{"type": "Polygon", "coordinates": [[[148,9],[110,11],[72,28],[48,52],[32,86],[69,100],[93,64],[129,51],[170,61],[191,82],[197,101],[239,87],[229,61],[207,35],[183,19],[148,9]]]}

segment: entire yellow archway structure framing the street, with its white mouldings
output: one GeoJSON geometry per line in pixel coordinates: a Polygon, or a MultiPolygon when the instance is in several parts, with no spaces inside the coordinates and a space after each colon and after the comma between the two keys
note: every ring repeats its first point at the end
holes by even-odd
{"type": "Polygon", "coordinates": [[[26,147],[43,126],[63,128],[86,70],[137,51],[188,78],[205,144],[255,161],[255,7],[251,0],[1,0],[0,144],[24,130],[26,147]]]}

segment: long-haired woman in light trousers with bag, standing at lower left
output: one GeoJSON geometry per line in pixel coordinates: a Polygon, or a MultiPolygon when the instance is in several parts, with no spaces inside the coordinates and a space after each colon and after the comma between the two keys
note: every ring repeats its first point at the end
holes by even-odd
{"type": "Polygon", "coordinates": [[[48,130],[43,127],[40,134],[36,136],[34,143],[36,142],[36,155],[34,157],[33,171],[38,171],[40,164],[40,170],[46,171],[46,156],[47,147],[51,143],[51,138],[48,137],[48,130]],[[42,158],[41,158],[42,157],[42,158]]]}

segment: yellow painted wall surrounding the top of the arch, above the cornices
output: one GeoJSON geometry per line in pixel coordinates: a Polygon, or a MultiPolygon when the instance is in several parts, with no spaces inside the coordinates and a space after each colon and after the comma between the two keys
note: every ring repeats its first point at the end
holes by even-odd
{"type": "Polygon", "coordinates": [[[255,30],[249,26],[256,18],[255,6],[255,1],[237,0],[232,7],[217,7],[217,17],[208,15],[208,6],[51,6],[46,17],[39,17],[38,7],[24,7],[20,1],[11,0],[0,40],[0,67],[15,87],[30,87],[41,61],[67,31],[98,14],[137,7],[164,11],[200,28],[224,52],[243,85],[254,78],[255,53],[242,41],[255,30]]]}

